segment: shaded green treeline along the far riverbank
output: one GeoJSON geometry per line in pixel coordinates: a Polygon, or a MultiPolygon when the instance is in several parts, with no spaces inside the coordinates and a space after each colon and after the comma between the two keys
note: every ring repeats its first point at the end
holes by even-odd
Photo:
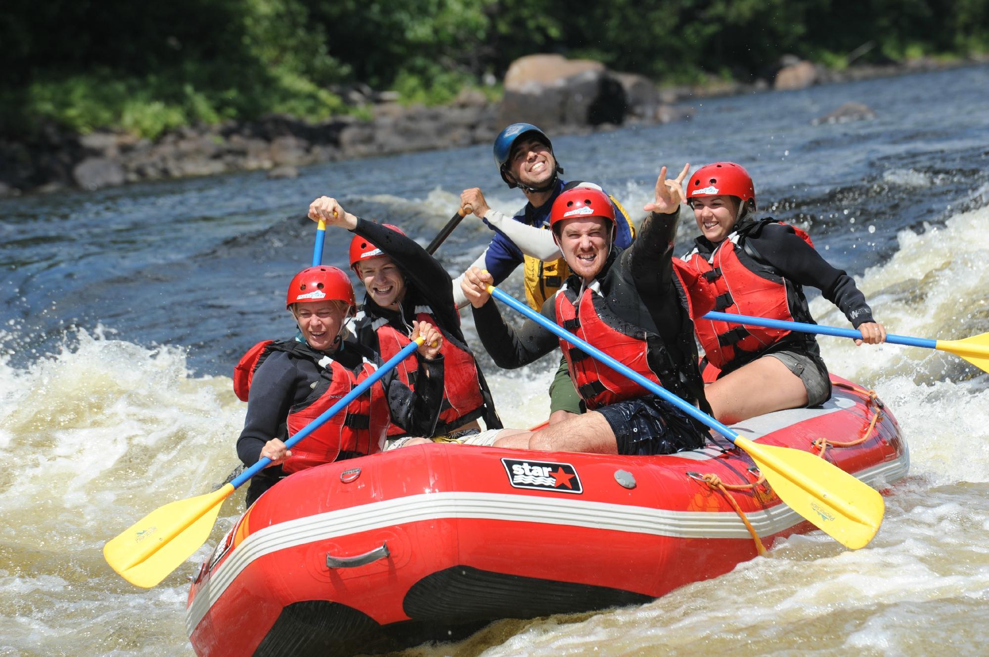
{"type": "Polygon", "coordinates": [[[842,67],[987,43],[986,0],[7,0],[0,119],[154,136],[359,113],[340,97],[358,83],[444,102],[533,52],[686,83],[751,79],[786,53],[842,67]]]}

